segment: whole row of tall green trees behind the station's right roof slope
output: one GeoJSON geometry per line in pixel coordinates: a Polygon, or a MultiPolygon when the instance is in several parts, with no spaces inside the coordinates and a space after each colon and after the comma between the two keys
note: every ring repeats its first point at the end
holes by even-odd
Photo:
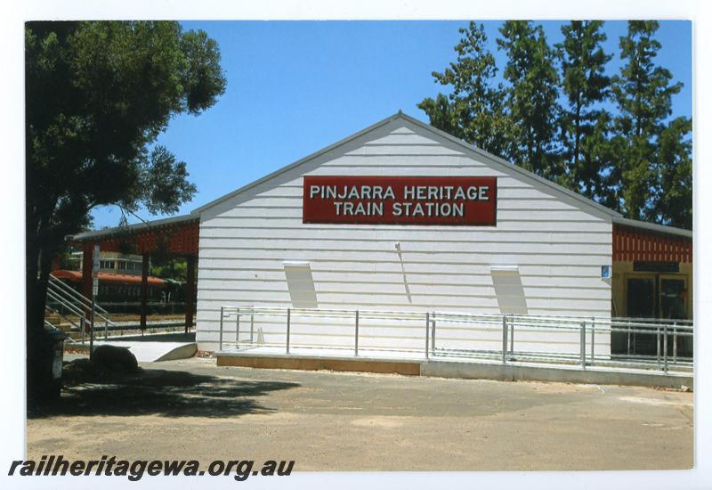
{"type": "Polygon", "coordinates": [[[434,127],[625,216],[690,229],[692,122],[668,121],[682,84],[654,62],[658,23],[628,22],[624,64],[613,78],[605,75],[611,54],[602,28],[603,21],[573,20],[552,49],[541,26],[504,22],[496,40],[507,55],[502,86],[484,29],[471,22],[459,30],[457,60],[433,72],[449,94],[418,107],[434,127]],[[617,110],[605,110],[606,102],[617,110]]]}

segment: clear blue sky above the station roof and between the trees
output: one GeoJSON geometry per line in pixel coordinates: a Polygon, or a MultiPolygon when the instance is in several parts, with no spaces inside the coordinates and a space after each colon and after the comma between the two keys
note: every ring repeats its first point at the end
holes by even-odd
{"type": "MultiPolygon", "coordinates": [[[[500,21],[483,22],[501,70],[500,21]]],[[[541,21],[550,45],[562,39],[562,21],[541,21]]],[[[158,138],[187,163],[198,186],[180,213],[248,184],[279,167],[351,135],[399,109],[427,122],[417,103],[444,87],[433,71],[455,61],[457,29],[467,21],[206,21],[220,45],[228,86],[213,108],[198,117],[178,116],[158,138]]],[[[604,47],[620,67],[619,37],[625,21],[608,21],[604,47]]],[[[692,41],[688,21],[660,21],[657,62],[684,83],[673,117],[692,116],[692,41]]],[[[144,219],[158,216],[142,210],[144,219]]],[[[94,227],[115,226],[115,207],[97,208],[94,227]]],[[[138,220],[133,216],[129,222],[138,220]]]]}

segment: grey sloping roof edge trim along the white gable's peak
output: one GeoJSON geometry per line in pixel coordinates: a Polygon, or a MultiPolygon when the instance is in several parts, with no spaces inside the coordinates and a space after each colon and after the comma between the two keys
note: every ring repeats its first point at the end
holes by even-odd
{"type": "Polygon", "coordinates": [[[622,217],[622,215],[619,212],[614,211],[610,208],[606,208],[605,206],[595,202],[595,200],[590,200],[590,199],[578,194],[577,192],[570,191],[569,189],[566,189],[565,187],[562,187],[559,184],[555,184],[554,182],[552,182],[544,177],[537,176],[536,174],[530,172],[529,170],[525,170],[522,167],[517,167],[516,165],[512,164],[511,162],[506,161],[506,159],[502,159],[502,158],[495,156],[487,151],[481,150],[480,148],[477,148],[476,146],[473,146],[470,143],[467,143],[459,138],[456,138],[453,135],[449,135],[448,133],[445,133],[444,131],[441,131],[440,129],[438,129],[436,127],[427,125],[424,122],[417,120],[417,118],[413,118],[407,114],[404,114],[401,110],[399,110],[397,113],[393,114],[392,116],[390,116],[388,118],[384,118],[383,120],[378,121],[376,124],[373,124],[369,127],[361,129],[359,132],[354,133],[353,135],[347,136],[344,139],[342,139],[336,143],[330,144],[327,147],[322,148],[319,151],[315,151],[314,153],[312,153],[311,155],[307,155],[303,159],[298,159],[294,163],[291,163],[291,164],[287,165],[286,167],[281,167],[278,170],[272,172],[271,174],[268,174],[267,176],[263,176],[262,178],[259,178],[250,184],[244,185],[233,192],[227,193],[220,198],[211,200],[207,204],[204,204],[203,206],[201,206],[199,208],[193,209],[191,214],[201,213],[202,211],[205,211],[206,209],[213,208],[214,206],[220,204],[221,202],[223,202],[225,200],[229,200],[232,197],[235,197],[235,196],[241,194],[242,192],[246,192],[247,190],[252,189],[256,185],[263,184],[264,182],[269,181],[270,179],[272,179],[276,176],[279,176],[285,172],[288,172],[289,170],[292,170],[295,167],[299,167],[300,165],[302,165],[303,163],[306,163],[309,160],[318,158],[321,155],[323,155],[324,153],[327,153],[328,151],[332,151],[332,150],[338,148],[339,146],[342,146],[346,143],[351,142],[352,140],[359,138],[362,135],[366,135],[366,134],[370,133],[371,131],[374,131],[378,127],[383,127],[386,124],[391,123],[392,121],[395,121],[398,119],[403,119],[414,126],[425,129],[425,131],[429,131],[429,132],[433,133],[434,135],[441,136],[442,138],[447,139],[449,142],[456,143],[465,152],[469,153],[472,156],[476,156],[478,159],[486,159],[491,164],[494,164],[495,167],[505,166],[508,170],[514,170],[514,172],[517,172],[517,173],[521,174],[522,176],[528,177],[530,179],[537,181],[539,184],[544,184],[547,187],[550,187],[555,192],[562,193],[570,198],[573,198],[575,200],[582,202],[583,204],[586,204],[587,206],[595,208],[599,211],[603,211],[603,213],[605,213],[607,215],[614,216],[614,217],[622,217]]]}

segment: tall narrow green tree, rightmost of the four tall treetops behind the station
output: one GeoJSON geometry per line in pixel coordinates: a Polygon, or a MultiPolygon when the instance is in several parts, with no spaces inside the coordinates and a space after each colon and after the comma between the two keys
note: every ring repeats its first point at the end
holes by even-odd
{"type": "MultiPolygon", "coordinates": [[[[653,37],[658,28],[653,20],[628,22],[627,36],[620,37],[620,55],[627,63],[612,80],[613,99],[619,108],[615,118],[617,200],[628,217],[651,221],[661,216],[656,202],[660,196],[655,192],[660,184],[660,163],[656,161],[661,155],[659,138],[672,113],[672,96],[682,87],[681,83],[672,84],[672,74],[653,61],[660,49],[653,37]]],[[[684,127],[677,124],[670,131],[684,127]]],[[[684,216],[674,220],[684,222],[684,216]]]]}

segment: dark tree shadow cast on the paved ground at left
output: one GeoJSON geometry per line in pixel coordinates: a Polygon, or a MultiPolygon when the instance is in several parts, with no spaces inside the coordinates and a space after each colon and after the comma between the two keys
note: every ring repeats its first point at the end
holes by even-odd
{"type": "Polygon", "coordinates": [[[28,407],[28,419],[56,415],[158,415],[165,417],[230,417],[271,413],[255,396],[299,387],[299,383],[252,381],[182,371],[142,370],[112,380],[62,388],[53,404],[28,407]]]}

